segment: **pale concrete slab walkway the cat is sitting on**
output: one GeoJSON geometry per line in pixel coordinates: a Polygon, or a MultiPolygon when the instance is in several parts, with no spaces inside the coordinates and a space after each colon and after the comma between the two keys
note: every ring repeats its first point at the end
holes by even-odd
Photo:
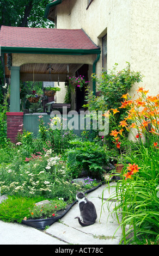
{"type": "MultiPolygon", "coordinates": [[[[121,228],[116,220],[108,213],[107,203],[102,205],[103,198],[107,199],[115,190],[115,182],[111,184],[111,191],[104,190],[102,185],[87,197],[94,203],[97,211],[96,223],[88,227],[81,227],[76,216],[80,216],[78,203],[72,206],[59,222],[53,223],[45,231],[41,231],[25,224],[8,223],[0,221],[1,245],[119,245],[121,228]],[[100,217],[101,215],[101,217],[100,217]],[[109,217],[108,217],[109,215],[109,217]],[[99,222],[100,220],[100,222],[99,222]],[[117,233],[115,231],[117,230],[117,233]],[[114,235],[115,233],[115,235],[114,235]],[[113,237],[114,235],[114,237],[113,237]]],[[[112,203],[112,202],[109,202],[112,203]]],[[[113,209],[114,202],[111,205],[113,209]]]]}

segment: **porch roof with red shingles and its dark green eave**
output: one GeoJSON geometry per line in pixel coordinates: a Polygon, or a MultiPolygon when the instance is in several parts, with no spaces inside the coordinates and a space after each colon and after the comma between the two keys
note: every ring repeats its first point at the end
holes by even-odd
{"type": "Polygon", "coordinates": [[[2,26],[1,51],[5,53],[99,54],[83,29],[2,26]]]}

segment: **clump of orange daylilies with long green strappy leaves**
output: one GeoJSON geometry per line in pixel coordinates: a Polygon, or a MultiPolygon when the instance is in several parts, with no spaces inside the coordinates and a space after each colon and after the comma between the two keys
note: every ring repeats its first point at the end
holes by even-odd
{"type": "MultiPolygon", "coordinates": [[[[123,179],[118,181],[114,196],[117,203],[113,210],[117,220],[121,215],[124,243],[132,234],[134,240],[139,235],[159,239],[159,95],[148,96],[148,90],[140,87],[136,100],[123,95],[125,100],[120,109],[127,109],[127,117],[111,132],[115,145],[123,141],[121,127],[132,133],[134,142],[127,141],[130,151],[125,164],[123,179]],[[126,232],[126,225],[129,229],[126,232]]],[[[122,178],[122,175],[121,175],[122,178]]]]}

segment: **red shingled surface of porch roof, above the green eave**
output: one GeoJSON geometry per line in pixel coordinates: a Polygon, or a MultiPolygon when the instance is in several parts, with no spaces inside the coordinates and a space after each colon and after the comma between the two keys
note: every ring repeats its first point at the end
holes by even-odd
{"type": "Polygon", "coordinates": [[[98,49],[82,29],[25,28],[2,26],[1,47],[98,49]]]}

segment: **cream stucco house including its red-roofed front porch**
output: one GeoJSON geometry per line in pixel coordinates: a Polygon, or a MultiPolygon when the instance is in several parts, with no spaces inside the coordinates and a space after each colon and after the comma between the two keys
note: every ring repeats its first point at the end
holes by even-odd
{"type": "MultiPolygon", "coordinates": [[[[143,84],[150,94],[158,94],[158,5],[158,0],[54,0],[47,4],[44,14],[55,23],[54,29],[2,26],[5,77],[11,76],[8,137],[14,141],[21,122],[27,130],[33,130],[35,117],[29,119],[20,112],[20,79],[33,81],[34,70],[35,81],[48,81],[48,65],[53,67],[52,81],[62,82],[58,103],[63,103],[68,74],[87,77],[96,94],[91,74],[99,76],[114,63],[121,70],[129,62],[131,70],[145,76],[143,84]],[[8,54],[10,70],[6,66],[8,54]]],[[[136,89],[133,86],[130,93],[136,89]]],[[[77,111],[84,93],[76,88],[73,105],[77,111]]]]}

